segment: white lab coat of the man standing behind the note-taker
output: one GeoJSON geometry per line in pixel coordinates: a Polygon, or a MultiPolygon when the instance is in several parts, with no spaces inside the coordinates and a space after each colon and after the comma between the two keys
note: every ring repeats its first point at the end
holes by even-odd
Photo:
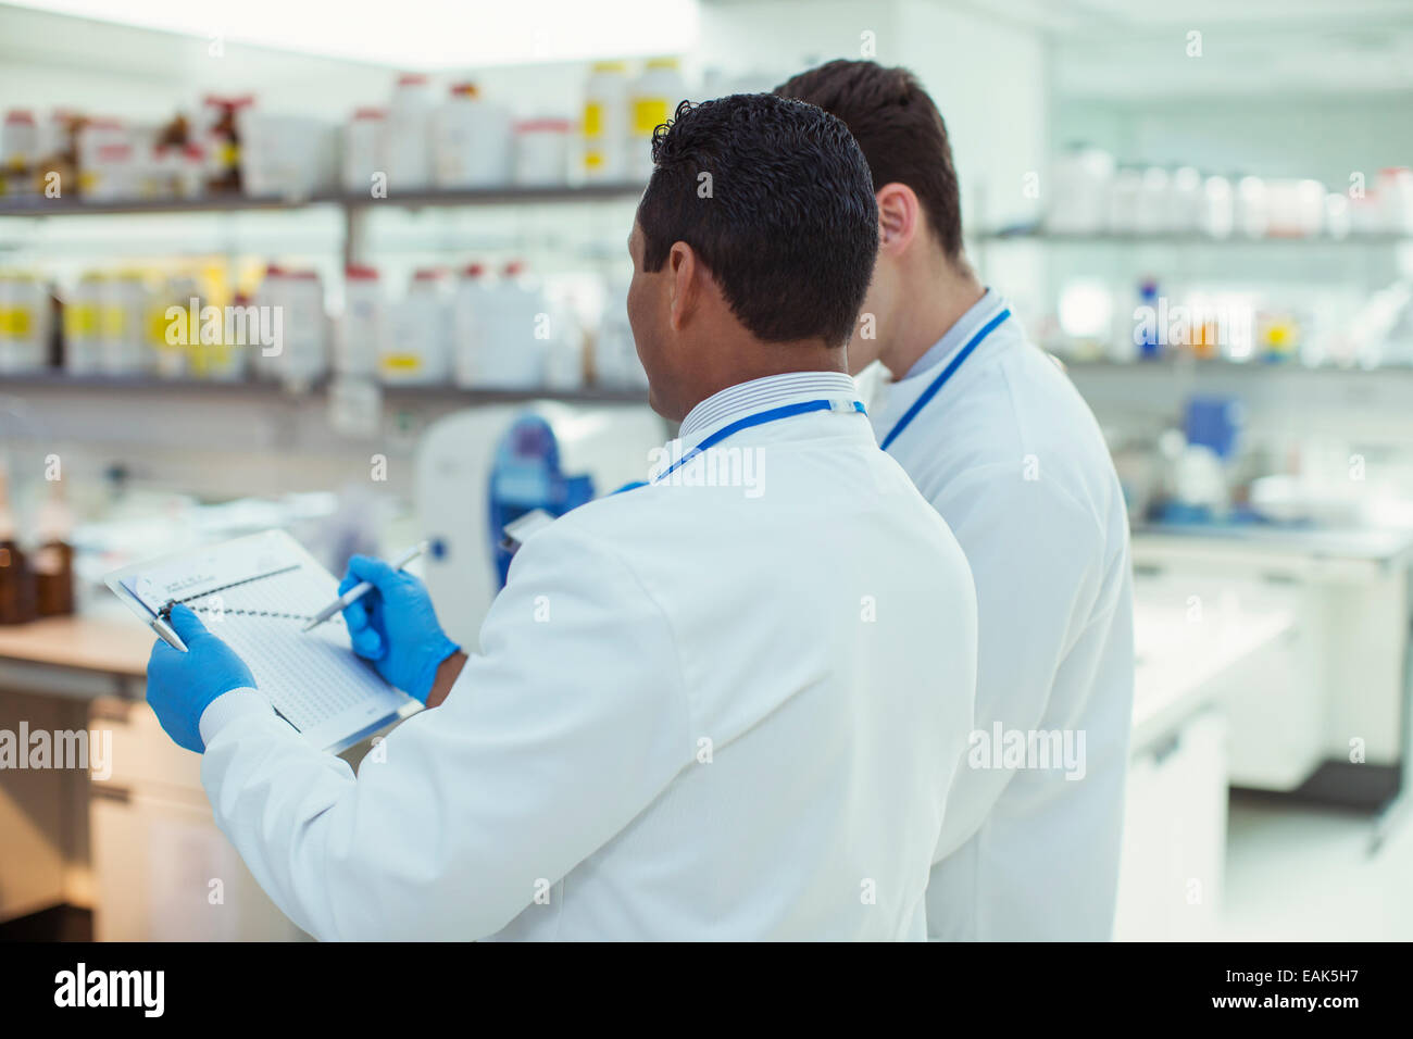
{"type": "MultiPolygon", "coordinates": [[[[981,327],[1002,307],[989,294],[964,321],[981,327]]],[[[873,396],[880,441],[954,355],[873,396]]],[[[1128,513],[1098,424],[1010,317],[889,452],[961,543],[979,616],[978,736],[948,802],[928,933],[1108,940],[1133,710],[1133,604],[1128,513]],[[1031,731],[1070,732],[1075,759],[1082,734],[1082,777],[1033,768],[1046,765],[1039,752],[1026,768],[1006,768],[1005,755],[993,768],[998,722],[1002,742],[1016,731],[1027,748],[1031,731]]]]}

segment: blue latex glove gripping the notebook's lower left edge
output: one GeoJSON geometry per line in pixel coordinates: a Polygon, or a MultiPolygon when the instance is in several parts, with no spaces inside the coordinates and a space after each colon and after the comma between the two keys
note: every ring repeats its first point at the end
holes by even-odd
{"type": "Polygon", "coordinates": [[[233,688],[254,688],[246,662],[225,642],[206,630],[187,606],[172,606],[171,625],[187,643],[187,652],[161,639],[147,659],[147,703],[157,712],[178,746],[201,753],[201,715],[212,700],[233,688]]]}

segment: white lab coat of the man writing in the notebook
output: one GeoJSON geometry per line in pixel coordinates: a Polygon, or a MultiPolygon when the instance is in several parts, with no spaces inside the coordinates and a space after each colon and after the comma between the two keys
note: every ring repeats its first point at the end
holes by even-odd
{"type": "Polygon", "coordinates": [[[216,820],[295,923],[926,936],[971,728],[965,560],[863,416],[722,447],[759,451],[759,496],[640,488],[531,536],[445,704],[356,777],[257,694],[208,708],[216,820]]]}

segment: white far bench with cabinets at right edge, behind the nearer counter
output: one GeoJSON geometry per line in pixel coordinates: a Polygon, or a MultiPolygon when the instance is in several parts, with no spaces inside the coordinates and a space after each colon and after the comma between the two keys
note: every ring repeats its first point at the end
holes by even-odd
{"type": "Polygon", "coordinates": [[[1150,524],[1139,580],[1197,611],[1286,611],[1296,638],[1226,704],[1238,787],[1381,813],[1413,789],[1413,530],[1150,524]]]}

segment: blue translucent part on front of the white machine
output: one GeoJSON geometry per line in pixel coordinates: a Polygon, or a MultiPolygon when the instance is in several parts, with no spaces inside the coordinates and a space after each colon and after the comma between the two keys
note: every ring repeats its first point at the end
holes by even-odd
{"type": "Polygon", "coordinates": [[[506,587],[512,551],[502,546],[507,523],[534,509],[562,516],[593,499],[593,478],[567,476],[560,469],[560,442],[537,414],[516,418],[496,442],[486,502],[490,509],[490,551],[500,587],[506,587]]]}

